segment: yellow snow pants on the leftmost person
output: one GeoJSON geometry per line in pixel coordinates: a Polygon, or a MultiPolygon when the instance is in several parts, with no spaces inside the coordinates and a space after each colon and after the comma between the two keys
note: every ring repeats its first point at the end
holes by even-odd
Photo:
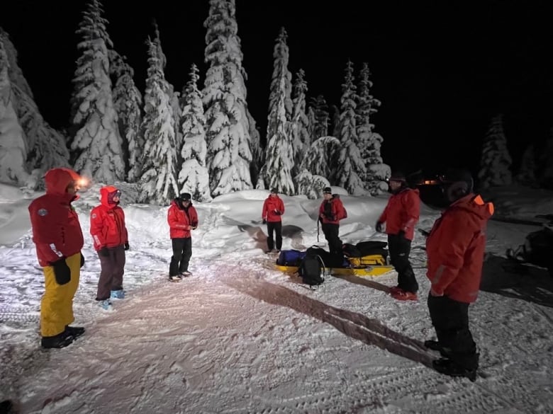
{"type": "Polygon", "coordinates": [[[71,280],[66,284],[56,282],[52,266],[43,268],[45,291],[40,302],[40,334],[43,336],[58,335],[74,321],[73,298],[81,276],[81,252],[66,258],[65,263],[71,270],[71,280]]]}

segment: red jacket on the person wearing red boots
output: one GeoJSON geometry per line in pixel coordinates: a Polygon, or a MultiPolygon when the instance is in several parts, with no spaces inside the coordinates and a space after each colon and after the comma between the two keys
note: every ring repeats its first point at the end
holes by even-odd
{"type": "Polygon", "coordinates": [[[403,188],[391,195],[379,222],[386,223],[386,234],[405,232],[405,238],[413,240],[415,224],[420,214],[418,189],[403,188]]]}

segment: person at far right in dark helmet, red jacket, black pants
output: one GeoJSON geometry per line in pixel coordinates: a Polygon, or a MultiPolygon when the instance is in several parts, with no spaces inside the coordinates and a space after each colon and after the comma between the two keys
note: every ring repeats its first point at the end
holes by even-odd
{"type": "Polygon", "coordinates": [[[469,304],[480,288],[493,204],[473,192],[466,170],[449,171],[442,188],[450,205],[426,239],[428,311],[437,340],[427,340],[425,346],[440,351],[442,358],[432,362],[438,372],[475,381],[479,354],[469,330],[469,304]]]}

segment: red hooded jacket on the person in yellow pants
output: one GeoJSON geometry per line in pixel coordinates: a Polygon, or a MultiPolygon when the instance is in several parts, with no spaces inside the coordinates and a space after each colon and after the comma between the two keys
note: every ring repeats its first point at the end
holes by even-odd
{"type": "Polygon", "coordinates": [[[82,249],[81,224],[71,205],[79,196],[66,192],[67,185],[79,179],[79,174],[69,168],[53,168],[45,175],[46,194],[29,205],[33,241],[41,266],[48,266],[82,249]]]}

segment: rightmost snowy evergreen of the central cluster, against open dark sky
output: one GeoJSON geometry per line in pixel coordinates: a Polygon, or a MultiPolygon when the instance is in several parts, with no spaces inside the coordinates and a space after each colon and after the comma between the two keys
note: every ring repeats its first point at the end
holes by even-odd
{"type": "Polygon", "coordinates": [[[361,158],[365,164],[365,173],[362,176],[365,188],[369,190],[371,195],[379,195],[388,189],[386,180],[390,177],[391,171],[380,154],[384,139],[380,134],[374,132],[374,125],[371,122],[371,117],[378,112],[377,108],[381,105],[381,102],[372,96],[370,76],[369,64],[364,62],[359,72],[359,88],[357,90],[357,137],[361,158]]]}

